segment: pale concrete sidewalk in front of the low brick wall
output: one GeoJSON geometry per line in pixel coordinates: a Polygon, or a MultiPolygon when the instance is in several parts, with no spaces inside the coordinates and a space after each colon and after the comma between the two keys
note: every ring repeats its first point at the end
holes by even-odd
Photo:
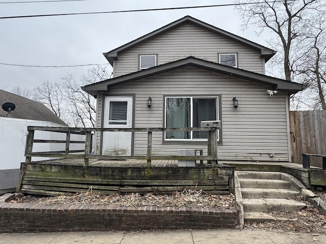
{"type": "Polygon", "coordinates": [[[236,243],[236,244],[307,244],[326,243],[326,234],[294,233],[267,230],[177,230],[159,232],[53,232],[1,233],[0,243],[236,243]]]}

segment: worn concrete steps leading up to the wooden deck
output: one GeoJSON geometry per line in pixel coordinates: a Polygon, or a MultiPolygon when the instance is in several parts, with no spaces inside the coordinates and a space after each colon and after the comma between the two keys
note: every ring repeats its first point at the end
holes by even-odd
{"type": "Polygon", "coordinates": [[[241,189],[244,221],[275,221],[273,211],[298,211],[303,202],[289,200],[300,194],[297,180],[281,172],[235,171],[241,189]]]}

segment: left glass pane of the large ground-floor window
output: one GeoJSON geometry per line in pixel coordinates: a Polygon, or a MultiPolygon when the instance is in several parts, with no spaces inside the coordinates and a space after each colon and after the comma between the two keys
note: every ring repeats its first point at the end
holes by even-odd
{"type": "MultiPolygon", "coordinates": [[[[191,126],[191,99],[190,98],[167,98],[166,100],[167,125],[166,128],[190,127],[191,126]]],[[[168,131],[167,139],[190,139],[189,131],[168,131]]]]}

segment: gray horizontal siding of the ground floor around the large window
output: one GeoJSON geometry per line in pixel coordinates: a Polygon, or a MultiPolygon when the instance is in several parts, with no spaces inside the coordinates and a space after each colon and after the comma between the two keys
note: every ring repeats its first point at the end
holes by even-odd
{"type": "MultiPolygon", "coordinates": [[[[183,68],[111,89],[110,94],[135,94],[135,128],[164,127],[164,96],[222,95],[223,144],[220,160],[288,161],[286,94],[270,98],[271,87],[196,68],[183,68]],[[152,98],[152,107],[146,105],[152,98]],[[239,107],[235,110],[232,98],[239,107]],[[275,157],[270,158],[269,154],[275,157]]],[[[99,105],[102,96],[98,96],[99,105]]],[[[99,106],[99,109],[102,108],[99,106]]],[[[101,125],[99,112],[98,126],[101,125]]],[[[147,135],[135,133],[134,154],[146,155],[147,135]]],[[[161,133],[153,133],[153,155],[177,155],[181,148],[204,149],[203,145],[162,144],[161,133]]]]}

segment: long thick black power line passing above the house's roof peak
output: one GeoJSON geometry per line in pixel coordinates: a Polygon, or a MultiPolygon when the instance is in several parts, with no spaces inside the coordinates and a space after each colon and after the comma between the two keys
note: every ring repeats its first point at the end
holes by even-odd
{"type": "MultiPolygon", "coordinates": [[[[290,0],[290,1],[297,1],[297,0],[290,0]]],[[[277,0],[277,1],[271,1],[271,2],[258,2],[258,3],[221,4],[221,5],[206,5],[206,6],[191,6],[191,7],[161,8],[161,9],[138,9],[138,10],[120,10],[120,11],[68,13],[68,14],[20,15],[20,16],[0,17],[0,19],[49,17],[49,16],[65,16],[65,15],[82,15],[82,14],[130,13],[130,12],[147,12],[147,11],[178,10],[178,9],[197,9],[197,8],[227,7],[227,6],[250,5],[250,4],[278,3],[278,2],[284,2],[284,0],[277,0]]]]}

